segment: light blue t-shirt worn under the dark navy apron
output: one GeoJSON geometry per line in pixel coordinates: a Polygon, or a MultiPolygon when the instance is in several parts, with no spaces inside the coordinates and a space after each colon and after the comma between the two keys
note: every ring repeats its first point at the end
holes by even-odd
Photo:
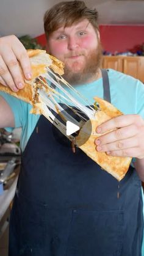
{"type": "MultiPolygon", "coordinates": [[[[139,80],[121,72],[109,69],[110,96],[114,106],[124,114],[140,114],[144,118],[144,85],[139,80]]],[[[93,104],[93,97],[103,98],[103,79],[74,88],[93,104]]],[[[68,89],[69,90],[69,89],[68,89]]],[[[9,103],[15,117],[15,127],[22,127],[21,149],[24,151],[27,141],[34,131],[40,115],[29,114],[32,106],[6,93],[0,95],[9,103]]],[[[72,95],[76,97],[76,94],[72,95]]],[[[49,121],[48,121],[49,122],[49,121]]],[[[10,128],[8,128],[10,131],[10,128]]]]}

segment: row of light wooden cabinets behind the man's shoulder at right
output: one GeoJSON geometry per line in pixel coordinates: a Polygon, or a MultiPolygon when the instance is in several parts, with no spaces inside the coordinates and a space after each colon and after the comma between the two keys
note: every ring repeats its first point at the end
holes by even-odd
{"type": "Polygon", "coordinates": [[[144,57],[103,56],[103,68],[113,68],[144,82],[144,57]]]}

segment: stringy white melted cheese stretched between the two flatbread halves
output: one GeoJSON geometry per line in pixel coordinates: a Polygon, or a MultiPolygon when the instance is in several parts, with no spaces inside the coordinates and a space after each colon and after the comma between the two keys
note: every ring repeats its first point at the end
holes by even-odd
{"type": "MultiPolygon", "coordinates": [[[[60,106],[60,104],[57,102],[62,101],[62,103],[67,106],[67,108],[70,108],[73,110],[74,114],[79,116],[82,121],[85,121],[86,119],[84,116],[81,115],[81,112],[87,115],[89,119],[95,119],[95,109],[93,109],[87,99],[85,99],[79,92],[77,92],[76,89],[74,89],[70,84],[68,84],[67,81],[65,81],[61,76],[57,76],[55,73],[53,73],[49,68],[48,68],[48,73],[45,74],[45,79],[43,77],[39,76],[39,80],[41,84],[43,84],[43,87],[38,89],[38,92],[40,93],[40,101],[45,103],[49,109],[52,109],[52,111],[56,112],[56,114],[59,114],[62,112],[63,118],[65,120],[71,120],[71,122],[76,123],[79,125],[79,122],[76,121],[73,117],[71,117],[70,114],[65,111],[65,109],[60,106]],[[54,84],[56,88],[52,88],[51,84],[54,84]],[[62,85],[61,85],[62,84],[62,85]],[[79,100],[76,100],[68,91],[63,87],[65,85],[68,89],[70,89],[70,92],[76,93],[78,95],[79,99],[84,101],[84,104],[80,103],[79,100]],[[87,106],[85,106],[87,104],[87,106]],[[71,107],[73,106],[73,107],[71,107]]],[[[47,110],[48,112],[51,112],[50,110],[47,110]]],[[[49,115],[51,115],[49,113],[49,115]]],[[[54,121],[55,116],[52,114],[51,115],[51,122],[54,121]]]]}

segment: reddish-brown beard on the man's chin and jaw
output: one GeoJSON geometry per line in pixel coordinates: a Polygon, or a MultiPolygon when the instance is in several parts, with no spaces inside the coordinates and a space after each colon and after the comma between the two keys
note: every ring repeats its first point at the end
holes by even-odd
{"type": "Polygon", "coordinates": [[[65,63],[64,74],[62,77],[73,86],[92,82],[96,79],[96,75],[101,65],[101,58],[102,47],[101,43],[99,43],[96,49],[93,49],[88,56],[85,56],[85,65],[81,70],[74,71],[74,68],[68,67],[67,63],[65,63]]]}

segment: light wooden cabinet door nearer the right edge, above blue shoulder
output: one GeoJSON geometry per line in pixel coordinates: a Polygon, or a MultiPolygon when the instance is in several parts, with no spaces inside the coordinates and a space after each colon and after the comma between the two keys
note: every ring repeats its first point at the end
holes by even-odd
{"type": "Polygon", "coordinates": [[[139,79],[140,59],[139,57],[124,57],[123,73],[139,79]]]}

